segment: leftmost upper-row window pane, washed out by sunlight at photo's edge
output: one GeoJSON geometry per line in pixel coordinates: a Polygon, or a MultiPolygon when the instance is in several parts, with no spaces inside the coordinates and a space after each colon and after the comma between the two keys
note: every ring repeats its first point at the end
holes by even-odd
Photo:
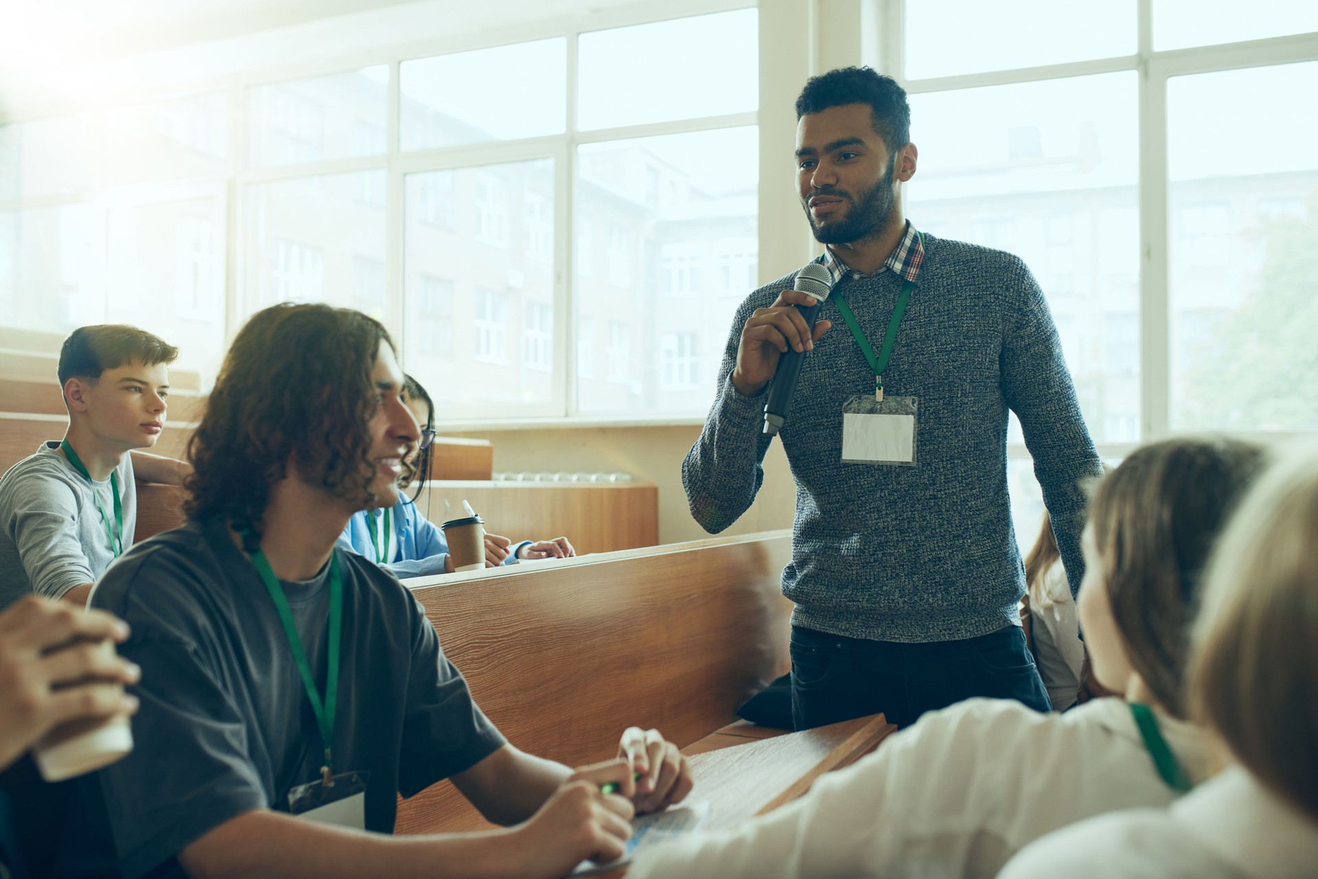
{"type": "Polygon", "coordinates": [[[0,199],[76,192],[96,183],[95,113],[0,125],[0,199]]]}

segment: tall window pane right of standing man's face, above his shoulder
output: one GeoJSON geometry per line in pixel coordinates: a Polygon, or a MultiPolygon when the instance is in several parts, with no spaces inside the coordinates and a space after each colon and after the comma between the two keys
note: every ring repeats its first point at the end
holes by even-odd
{"type": "Polygon", "coordinates": [[[1021,257],[1094,439],[1139,440],[1135,74],[913,95],[911,105],[916,228],[1021,257]]]}

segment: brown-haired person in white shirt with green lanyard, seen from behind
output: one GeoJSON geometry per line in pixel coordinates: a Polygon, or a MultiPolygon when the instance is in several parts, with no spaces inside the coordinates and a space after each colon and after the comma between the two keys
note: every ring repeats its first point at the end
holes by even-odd
{"type": "Polygon", "coordinates": [[[1263,451],[1222,439],[1137,449],[1098,488],[1079,619],[1099,698],[1065,714],[977,698],[931,712],[808,795],[638,857],[651,876],[992,876],[1033,839],[1165,807],[1205,775],[1181,671],[1198,572],[1263,451]]]}

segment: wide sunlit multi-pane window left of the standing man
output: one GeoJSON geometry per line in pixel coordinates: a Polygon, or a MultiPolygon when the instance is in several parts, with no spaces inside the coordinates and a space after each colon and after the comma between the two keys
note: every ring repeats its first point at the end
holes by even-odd
{"type": "Polygon", "coordinates": [[[708,361],[663,340],[728,327],[666,308],[704,291],[663,289],[663,254],[696,254],[688,286],[738,275],[720,315],[757,260],[759,14],[708,8],[399,32],[347,63],[308,61],[308,25],[306,57],[248,40],[257,69],[179,53],[142,87],[163,99],[0,116],[0,326],[137,323],[207,382],[253,312],[326,302],[382,320],[448,419],[693,416],[708,361]]]}

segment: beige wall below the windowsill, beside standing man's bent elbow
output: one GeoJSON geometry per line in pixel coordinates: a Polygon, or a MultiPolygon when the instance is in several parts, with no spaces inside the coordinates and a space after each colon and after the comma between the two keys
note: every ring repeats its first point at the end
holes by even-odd
{"type": "MultiPolygon", "coordinates": [[[[474,431],[445,436],[488,439],[494,445],[494,470],[534,473],[623,472],[659,486],[659,542],[679,543],[704,536],[687,510],[681,489],[681,460],[700,436],[700,424],[670,427],[550,427],[474,431]]],[[[724,534],[754,534],[789,528],[796,490],[782,443],[764,457],[764,485],[755,503],[724,534]]],[[[544,535],[547,536],[547,535],[544,535]]],[[[567,535],[571,539],[571,534],[567,535]]]]}

